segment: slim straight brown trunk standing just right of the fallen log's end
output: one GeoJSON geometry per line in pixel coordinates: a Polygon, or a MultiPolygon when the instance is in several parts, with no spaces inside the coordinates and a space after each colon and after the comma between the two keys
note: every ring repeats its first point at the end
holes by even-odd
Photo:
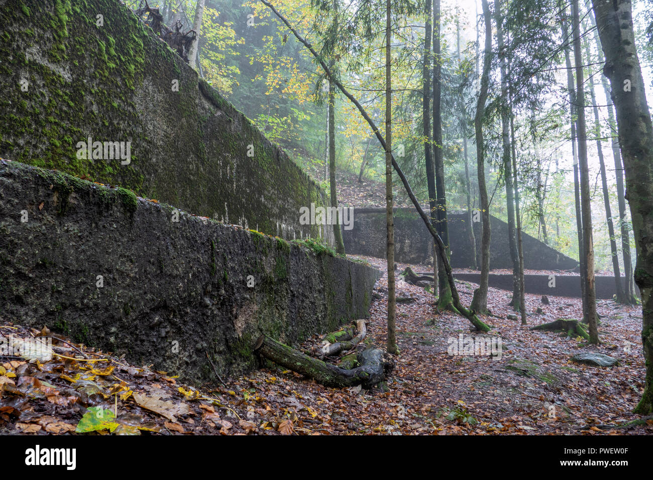
{"type": "Polygon", "coordinates": [[[385,0],[385,221],[388,261],[388,353],[397,353],[394,297],[394,219],[392,218],[392,72],[390,69],[390,0],[385,0]]]}

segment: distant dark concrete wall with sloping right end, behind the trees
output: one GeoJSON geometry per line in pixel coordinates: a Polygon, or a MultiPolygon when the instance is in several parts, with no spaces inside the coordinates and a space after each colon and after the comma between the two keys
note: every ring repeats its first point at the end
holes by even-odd
{"type": "MultiPolygon", "coordinates": [[[[428,211],[428,208],[426,209],[428,211]]],[[[513,268],[508,244],[508,225],[490,216],[490,268],[513,268]]],[[[471,250],[467,233],[466,215],[449,212],[449,244],[451,265],[454,268],[471,266],[470,259],[477,256],[480,264],[481,222],[475,222],[476,251],[471,250]]],[[[356,208],[353,229],[343,231],[345,250],[352,255],[385,257],[385,208],[356,208]]],[[[395,260],[403,263],[431,263],[432,236],[414,208],[394,210],[395,260]]],[[[528,234],[522,234],[524,267],[533,270],[569,270],[578,262],[550,248],[528,234]]]]}

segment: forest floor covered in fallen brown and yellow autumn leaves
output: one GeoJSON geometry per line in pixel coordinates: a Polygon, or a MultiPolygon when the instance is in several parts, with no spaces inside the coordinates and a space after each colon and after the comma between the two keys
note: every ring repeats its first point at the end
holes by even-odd
{"type": "MultiPolygon", "coordinates": [[[[385,270],[384,261],[363,258],[385,270]]],[[[458,283],[464,304],[473,288],[458,283]]],[[[476,335],[470,323],[451,312],[434,313],[434,297],[421,287],[398,281],[397,292],[414,301],[397,305],[400,355],[392,376],[372,391],[330,389],[269,362],[225,379],[227,386],[189,387],[165,372],[54,340],[63,357],[84,351],[88,359],[102,361],[0,359],[0,434],[653,434],[650,420],[605,428],[639,418],[631,410],[645,373],[641,308],[599,301],[603,344],[592,347],[565,334],[522,328],[507,319],[510,293],[490,288],[488,306],[496,316],[483,320],[503,345],[500,359],[493,359],[449,355],[447,348],[461,334],[476,335]],[[569,360],[588,351],[619,364],[602,368],[569,360]]],[[[540,296],[526,295],[529,327],[580,316],[578,298],[549,296],[549,301],[544,305],[540,296]],[[544,313],[534,313],[538,307],[544,313]]],[[[375,285],[367,344],[385,347],[386,310],[384,276],[375,285]]],[[[321,345],[320,333],[301,348],[321,345]]],[[[38,332],[5,322],[0,334],[38,332]]]]}

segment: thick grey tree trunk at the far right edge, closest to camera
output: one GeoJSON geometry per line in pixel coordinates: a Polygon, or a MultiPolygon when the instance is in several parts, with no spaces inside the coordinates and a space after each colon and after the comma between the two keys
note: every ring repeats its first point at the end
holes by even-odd
{"type": "Polygon", "coordinates": [[[646,415],[653,413],[653,126],[635,48],[630,1],[592,0],[592,5],[605,53],[603,72],[610,80],[616,108],[627,200],[637,246],[635,283],[642,295],[646,379],[644,394],[635,412],[646,415]]]}

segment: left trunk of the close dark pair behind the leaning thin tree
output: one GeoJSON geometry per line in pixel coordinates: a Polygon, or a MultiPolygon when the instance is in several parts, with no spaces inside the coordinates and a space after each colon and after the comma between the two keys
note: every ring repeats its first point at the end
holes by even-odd
{"type": "MultiPolygon", "coordinates": [[[[431,225],[437,228],[437,212],[436,212],[436,174],[433,167],[433,158],[431,156],[432,152],[432,139],[431,139],[431,110],[430,110],[430,99],[431,99],[431,0],[426,0],[426,5],[424,7],[425,18],[425,30],[424,35],[424,65],[422,67],[422,123],[424,124],[424,163],[426,164],[426,185],[428,187],[428,206],[430,208],[430,219],[431,225]]],[[[438,253],[436,249],[438,248],[433,242],[433,293],[436,295],[438,292],[438,253]]]]}

